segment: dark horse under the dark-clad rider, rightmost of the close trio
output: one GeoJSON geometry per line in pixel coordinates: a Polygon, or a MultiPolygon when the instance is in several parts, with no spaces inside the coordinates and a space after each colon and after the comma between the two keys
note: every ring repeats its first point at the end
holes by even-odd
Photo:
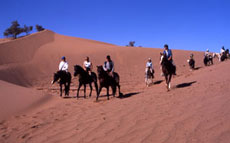
{"type": "Polygon", "coordinates": [[[116,89],[118,87],[118,89],[119,89],[119,97],[121,97],[122,93],[120,91],[120,84],[119,84],[120,77],[119,77],[118,73],[114,72],[113,77],[112,77],[106,71],[104,71],[102,66],[97,66],[97,72],[98,72],[98,79],[99,79],[99,83],[100,83],[97,100],[98,100],[98,97],[100,95],[101,89],[103,87],[105,87],[107,89],[107,99],[108,100],[109,100],[109,87],[112,88],[114,97],[115,97],[115,94],[116,94],[116,89]]]}

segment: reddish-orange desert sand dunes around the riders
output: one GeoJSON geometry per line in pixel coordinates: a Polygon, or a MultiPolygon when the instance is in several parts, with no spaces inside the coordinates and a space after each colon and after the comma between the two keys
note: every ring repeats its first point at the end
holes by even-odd
{"type": "Polygon", "coordinates": [[[230,61],[215,59],[214,65],[204,67],[202,52],[173,49],[177,76],[167,92],[160,76],[162,51],[49,30],[0,43],[0,142],[228,143],[230,61]],[[187,63],[191,53],[195,71],[187,63]],[[71,84],[71,98],[59,97],[58,85],[50,85],[60,57],[66,56],[73,74],[73,66],[82,65],[86,56],[96,72],[96,65],[103,64],[108,54],[120,74],[124,98],[107,100],[105,89],[99,102],[95,102],[95,92],[91,98],[73,98],[77,78],[71,84]],[[144,71],[149,57],[155,78],[146,87],[144,71]]]}

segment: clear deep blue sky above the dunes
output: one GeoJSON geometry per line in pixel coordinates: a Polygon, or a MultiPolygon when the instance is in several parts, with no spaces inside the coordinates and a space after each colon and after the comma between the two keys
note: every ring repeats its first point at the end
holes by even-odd
{"type": "Polygon", "coordinates": [[[0,37],[18,20],[116,45],[219,51],[230,48],[229,7],[229,0],[2,1],[0,37]]]}

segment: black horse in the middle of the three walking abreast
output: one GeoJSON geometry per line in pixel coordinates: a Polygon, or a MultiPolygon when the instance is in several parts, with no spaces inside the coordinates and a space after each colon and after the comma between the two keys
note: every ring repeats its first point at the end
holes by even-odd
{"type": "Polygon", "coordinates": [[[94,72],[91,72],[91,75],[88,74],[87,71],[85,71],[81,66],[75,65],[74,66],[74,76],[79,75],[79,85],[77,89],[77,98],[79,98],[79,90],[82,85],[84,85],[84,98],[86,98],[86,85],[89,84],[90,87],[90,93],[89,97],[91,97],[92,94],[92,82],[94,82],[94,86],[96,89],[96,93],[98,96],[98,85],[97,85],[97,75],[94,72]]]}

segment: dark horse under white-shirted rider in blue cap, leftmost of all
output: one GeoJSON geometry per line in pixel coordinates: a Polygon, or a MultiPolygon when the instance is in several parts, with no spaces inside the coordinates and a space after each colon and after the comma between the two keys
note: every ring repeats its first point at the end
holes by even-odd
{"type": "Polygon", "coordinates": [[[71,83],[71,74],[66,71],[58,71],[54,73],[52,84],[59,80],[60,85],[60,96],[62,96],[62,85],[65,86],[65,96],[69,96],[70,83],[71,83]]]}

